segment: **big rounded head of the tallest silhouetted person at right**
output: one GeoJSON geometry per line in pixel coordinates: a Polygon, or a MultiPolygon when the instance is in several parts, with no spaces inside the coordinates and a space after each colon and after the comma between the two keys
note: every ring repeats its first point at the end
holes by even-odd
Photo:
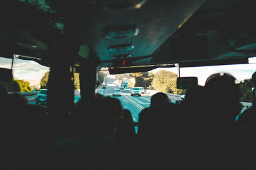
{"type": "Polygon", "coordinates": [[[240,95],[236,78],[230,74],[217,73],[207,78],[203,96],[209,131],[223,131],[232,128],[234,120],[242,108],[239,102],[240,95]]]}

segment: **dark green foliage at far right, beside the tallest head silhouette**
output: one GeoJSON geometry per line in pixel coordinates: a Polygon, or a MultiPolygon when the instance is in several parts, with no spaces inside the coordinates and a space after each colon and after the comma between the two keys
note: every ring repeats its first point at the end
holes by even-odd
{"type": "Polygon", "coordinates": [[[240,81],[239,82],[239,87],[240,87],[240,90],[241,90],[241,99],[240,99],[240,101],[252,102],[252,87],[253,87],[252,78],[244,79],[243,81],[240,81]]]}

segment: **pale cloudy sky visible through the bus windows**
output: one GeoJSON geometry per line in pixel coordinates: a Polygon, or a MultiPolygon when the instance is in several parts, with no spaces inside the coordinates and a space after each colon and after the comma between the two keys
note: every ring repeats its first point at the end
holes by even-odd
{"type": "MultiPolygon", "coordinates": [[[[249,60],[251,64],[233,64],[225,66],[207,66],[207,67],[184,67],[180,68],[180,76],[197,76],[198,84],[204,85],[208,76],[218,72],[232,74],[237,81],[242,81],[245,78],[252,78],[252,74],[256,71],[256,57],[249,60]]],[[[11,68],[12,60],[0,57],[0,67],[11,68]]],[[[152,70],[156,73],[160,69],[166,69],[173,73],[178,73],[177,67],[172,68],[157,68],[152,70]]],[[[13,69],[13,77],[19,80],[29,81],[31,85],[40,83],[44,74],[49,71],[49,67],[42,66],[31,60],[17,59],[13,69]]]]}

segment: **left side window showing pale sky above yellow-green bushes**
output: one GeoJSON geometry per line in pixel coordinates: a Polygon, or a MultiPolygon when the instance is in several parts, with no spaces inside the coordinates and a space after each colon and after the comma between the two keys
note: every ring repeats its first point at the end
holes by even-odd
{"type": "MultiPolygon", "coordinates": [[[[49,67],[42,66],[38,62],[32,60],[13,60],[13,81],[10,83],[1,82],[0,84],[9,92],[18,92],[25,96],[30,104],[35,103],[35,96],[32,99],[33,92],[38,93],[41,89],[45,89],[48,76],[49,67]],[[27,95],[30,93],[29,95],[27,95]],[[30,97],[28,97],[30,96],[30,97]]],[[[10,69],[12,66],[12,59],[0,57],[0,67],[10,69]]]]}

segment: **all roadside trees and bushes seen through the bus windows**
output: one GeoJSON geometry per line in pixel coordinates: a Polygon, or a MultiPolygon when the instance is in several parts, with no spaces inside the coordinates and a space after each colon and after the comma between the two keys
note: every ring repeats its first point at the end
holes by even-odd
{"type": "MultiPolygon", "coordinates": [[[[97,74],[97,81],[99,83],[104,82],[104,78],[108,74],[100,71],[97,74]]],[[[159,70],[155,74],[152,72],[140,72],[140,73],[130,73],[130,74],[116,74],[118,80],[128,80],[129,87],[144,87],[144,89],[157,90],[159,92],[165,92],[170,94],[185,94],[186,90],[180,90],[176,88],[177,74],[171,71],[159,70]],[[131,79],[134,81],[131,81],[131,79]]],[[[49,71],[44,74],[40,81],[40,89],[47,89],[47,81],[49,79],[49,71]]],[[[241,100],[243,102],[252,102],[252,88],[253,81],[252,78],[244,79],[239,81],[239,87],[241,89],[241,100]]],[[[6,83],[1,82],[2,85],[8,92],[32,92],[38,89],[35,85],[30,85],[28,81],[25,80],[15,80],[6,83]]],[[[74,73],[74,89],[80,89],[79,73],[74,73]]],[[[225,95],[225,94],[223,94],[225,95]]]]}

